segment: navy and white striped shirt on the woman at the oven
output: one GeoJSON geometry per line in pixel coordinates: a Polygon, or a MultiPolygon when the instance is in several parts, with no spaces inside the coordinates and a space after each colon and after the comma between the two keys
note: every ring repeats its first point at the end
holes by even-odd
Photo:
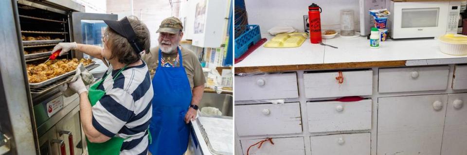
{"type": "Polygon", "coordinates": [[[97,88],[106,95],[92,106],[92,125],[108,137],[126,138],[120,155],[147,155],[154,94],[151,76],[143,62],[127,67],[112,81],[118,70],[109,66],[104,76],[110,74],[97,88]]]}

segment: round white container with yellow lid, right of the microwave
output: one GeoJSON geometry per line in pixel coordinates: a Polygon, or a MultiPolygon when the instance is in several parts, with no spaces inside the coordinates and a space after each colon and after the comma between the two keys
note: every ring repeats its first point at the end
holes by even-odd
{"type": "Polygon", "coordinates": [[[438,38],[441,52],[450,55],[467,54],[467,35],[445,34],[438,38]]]}

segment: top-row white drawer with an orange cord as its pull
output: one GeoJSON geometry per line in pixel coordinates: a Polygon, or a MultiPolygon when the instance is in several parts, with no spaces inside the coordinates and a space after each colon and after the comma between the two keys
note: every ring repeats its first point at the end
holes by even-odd
{"type": "Polygon", "coordinates": [[[339,72],[305,73],[305,97],[365,96],[373,92],[373,70],[342,71],[341,84],[336,77],[339,72]]]}

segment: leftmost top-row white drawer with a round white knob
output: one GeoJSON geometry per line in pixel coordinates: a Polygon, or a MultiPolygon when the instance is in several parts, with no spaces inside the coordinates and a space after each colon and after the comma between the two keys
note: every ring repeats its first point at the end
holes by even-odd
{"type": "Polygon", "coordinates": [[[235,101],[298,98],[297,73],[235,76],[235,101]]]}

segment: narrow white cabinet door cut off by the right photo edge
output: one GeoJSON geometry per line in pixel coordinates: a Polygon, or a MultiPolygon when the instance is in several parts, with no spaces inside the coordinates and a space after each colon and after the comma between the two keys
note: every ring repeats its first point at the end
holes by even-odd
{"type": "Polygon", "coordinates": [[[449,94],[441,155],[467,155],[467,93],[449,94]]]}

